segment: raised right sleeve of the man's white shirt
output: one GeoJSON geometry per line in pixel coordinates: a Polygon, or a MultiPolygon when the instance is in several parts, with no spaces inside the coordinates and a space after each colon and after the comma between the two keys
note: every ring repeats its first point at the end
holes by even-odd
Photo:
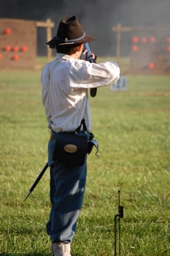
{"type": "Polygon", "coordinates": [[[77,61],[70,75],[71,86],[74,88],[97,88],[115,84],[120,78],[120,68],[111,61],[101,64],[77,61]]]}

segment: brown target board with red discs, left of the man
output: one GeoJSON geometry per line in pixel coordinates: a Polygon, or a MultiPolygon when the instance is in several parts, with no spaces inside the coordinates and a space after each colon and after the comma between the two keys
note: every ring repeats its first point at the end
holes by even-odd
{"type": "Polygon", "coordinates": [[[34,68],[36,22],[0,19],[0,68],[34,68]]]}

